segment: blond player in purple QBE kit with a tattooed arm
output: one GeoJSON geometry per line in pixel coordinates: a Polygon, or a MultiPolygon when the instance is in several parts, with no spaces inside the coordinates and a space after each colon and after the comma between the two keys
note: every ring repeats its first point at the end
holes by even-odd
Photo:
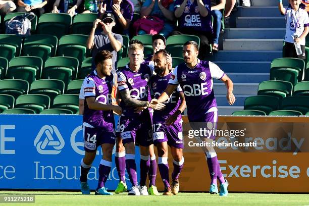
{"type": "Polygon", "coordinates": [[[132,188],[129,195],[148,195],[145,186],[149,171],[149,146],[152,144],[152,130],[149,111],[162,109],[164,104],[151,105],[148,101],[148,81],[153,70],[148,65],[143,65],[143,44],[134,40],[129,45],[130,63],[125,69],[118,72],[118,89],[121,95],[120,106],[123,115],[120,119],[120,132],[122,143],[125,146],[126,168],[132,188]],[[140,185],[137,183],[135,163],[135,142],[140,148],[140,185]]]}

